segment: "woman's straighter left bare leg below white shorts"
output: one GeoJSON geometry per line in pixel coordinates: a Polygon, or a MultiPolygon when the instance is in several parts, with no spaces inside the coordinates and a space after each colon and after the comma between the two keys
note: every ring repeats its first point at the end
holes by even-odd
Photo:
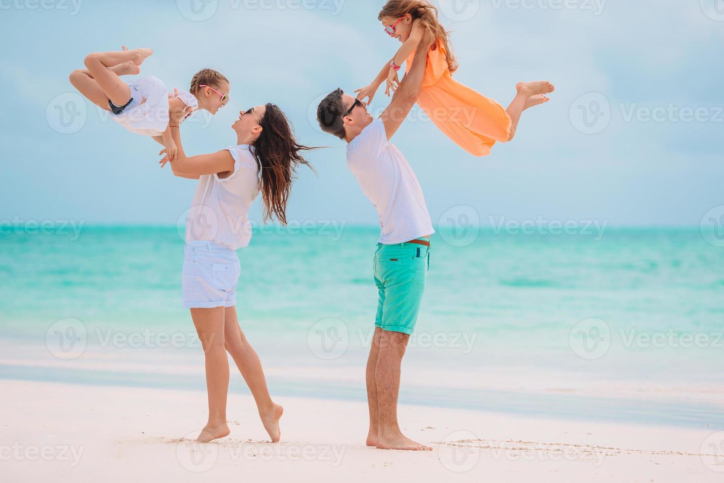
{"type": "Polygon", "coordinates": [[[209,442],[229,435],[226,419],[229,360],[224,348],[224,307],[192,308],[191,318],[206,356],[209,421],[197,441],[209,442]]]}

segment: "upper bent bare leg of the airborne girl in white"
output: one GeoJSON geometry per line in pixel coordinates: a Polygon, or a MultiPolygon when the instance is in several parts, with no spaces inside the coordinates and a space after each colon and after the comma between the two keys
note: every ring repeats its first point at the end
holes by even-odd
{"type": "Polygon", "coordinates": [[[125,105],[131,98],[128,85],[111,70],[118,64],[132,61],[140,65],[148,56],[153,54],[151,49],[133,49],[119,52],[94,52],[85,57],[85,67],[96,80],[101,91],[117,106],[125,105]]]}

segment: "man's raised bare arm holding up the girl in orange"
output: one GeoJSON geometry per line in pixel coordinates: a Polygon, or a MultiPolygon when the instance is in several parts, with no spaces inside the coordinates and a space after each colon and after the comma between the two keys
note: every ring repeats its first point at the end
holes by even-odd
{"type": "MultiPolygon", "coordinates": [[[[397,89],[395,95],[392,96],[392,102],[382,112],[382,122],[384,122],[384,130],[387,133],[387,139],[397,133],[397,130],[403,124],[403,121],[410,114],[413,104],[416,103],[420,90],[422,88],[422,80],[425,77],[425,67],[427,65],[427,52],[432,46],[434,35],[425,31],[422,40],[417,46],[415,57],[412,62],[410,71],[405,74],[400,88],[397,89]]],[[[409,68],[409,66],[408,66],[409,68]]]]}

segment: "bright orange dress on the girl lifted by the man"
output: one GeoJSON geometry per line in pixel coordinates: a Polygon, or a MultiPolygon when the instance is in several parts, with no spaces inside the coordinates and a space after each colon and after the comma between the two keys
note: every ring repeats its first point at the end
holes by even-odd
{"type": "MultiPolygon", "coordinates": [[[[407,59],[408,72],[414,57],[415,52],[407,59]]],[[[496,141],[505,143],[510,138],[510,116],[505,109],[452,80],[442,41],[427,54],[417,104],[442,133],[473,156],[487,156],[496,141]]]]}

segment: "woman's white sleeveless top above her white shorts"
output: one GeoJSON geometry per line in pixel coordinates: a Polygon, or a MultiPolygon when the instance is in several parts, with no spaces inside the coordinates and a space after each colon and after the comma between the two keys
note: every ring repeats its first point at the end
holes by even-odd
{"type": "Polygon", "coordinates": [[[213,241],[238,250],[251,240],[249,208],[259,195],[259,167],[253,146],[227,148],[234,158],[234,172],[225,178],[203,175],[186,219],[186,243],[213,241]]]}

